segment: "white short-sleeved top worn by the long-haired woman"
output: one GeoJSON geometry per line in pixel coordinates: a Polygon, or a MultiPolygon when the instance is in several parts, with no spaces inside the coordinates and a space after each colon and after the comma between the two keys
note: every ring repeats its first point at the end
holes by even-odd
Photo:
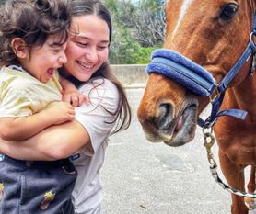
{"type": "Polygon", "coordinates": [[[93,84],[84,84],[79,91],[89,95],[90,104],[76,107],[76,120],[87,130],[93,151],[84,146],[71,157],[78,171],[73,202],[76,214],[100,214],[102,186],[99,169],[104,162],[108,137],[114,126],[111,121],[115,118],[106,109],[116,111],[119,95],[116,86],[102,78],[94,79],[93,84]],[[92,89],[98,84],[101,85],[92,89]]]}

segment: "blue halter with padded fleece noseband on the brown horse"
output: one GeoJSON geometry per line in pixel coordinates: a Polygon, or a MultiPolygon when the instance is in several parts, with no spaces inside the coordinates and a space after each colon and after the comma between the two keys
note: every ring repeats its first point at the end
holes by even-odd
{"type": "Polygon", "coordinates": [[[244,110],[227,109],[219,111],[219,108],[221,107],[228,84],[239,73],[239,70],[250,59],[250,56],[253,56],[256,52],[256,45],[252,40],[255,35],[256,15],[253,17],[250,40],[245,51],[219,84],[215,83],[213,75],[204,67],[192,62],[192,60],[177,51],[169,51],[167,49],[157,49],[152,52],[151,62],[146,66],[146,71],[148,74],[162,73],[191,90],[197,96],[209,96],[212,104],[211,115],[205,120],[198,118],[197,121],[198,125],[203,128],[211,128],[220,116],[244,119],[247,115],[247,112],[244,110]],[[215,93],[216,96],[212,98],[215,93]]]}

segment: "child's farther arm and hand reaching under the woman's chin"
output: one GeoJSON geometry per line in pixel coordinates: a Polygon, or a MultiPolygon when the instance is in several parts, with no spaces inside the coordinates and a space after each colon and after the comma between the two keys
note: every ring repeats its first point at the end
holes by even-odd
{"type": "Polygon", "coordinates": [[[63,101],[70,103],[73,107],[79,107],[84,102],[88,102],[88,97],[82,95],[76,88],[74,84],[66,80],[60,75],[59,77],[60,84],[64,88],[63,101]]]}

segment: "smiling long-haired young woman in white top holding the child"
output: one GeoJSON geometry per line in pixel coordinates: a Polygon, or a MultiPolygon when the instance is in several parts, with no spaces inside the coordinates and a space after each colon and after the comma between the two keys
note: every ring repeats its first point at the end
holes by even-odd
{"type": "MultiPolygon", "coordinates": [[[[71,2],[73,27],[61,73],[89,97],[76,119],[42,130],[26,141],[1,141],[0,151],[17,159],[58,160],[71,155],[78,177],[76,213],[102,213],[99,169],[111,132],[128,128],[131,110],[108,63],[111,17],[98,0],[71,2]]],[[[51,117],[51,116],[49,116],[51,117]]]]}

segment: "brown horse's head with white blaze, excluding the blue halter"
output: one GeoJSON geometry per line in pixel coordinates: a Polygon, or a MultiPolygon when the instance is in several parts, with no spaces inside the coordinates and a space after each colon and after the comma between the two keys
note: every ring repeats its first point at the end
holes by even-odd
{"type": "MultiPolygon", "coordinates": [[[[217,84],[248,45],[255,5],[255,0],[169,0],[164,48],[201,65],[217,84]]],[[[247,77],[251,62],[250,57],[229,86],[239,85],[247,77]]],[[[180,146],[192,141],[197,118],[209,102],[210,96],[197,96],[153,72],[138,118],[149,141],[180,146]]]]}

